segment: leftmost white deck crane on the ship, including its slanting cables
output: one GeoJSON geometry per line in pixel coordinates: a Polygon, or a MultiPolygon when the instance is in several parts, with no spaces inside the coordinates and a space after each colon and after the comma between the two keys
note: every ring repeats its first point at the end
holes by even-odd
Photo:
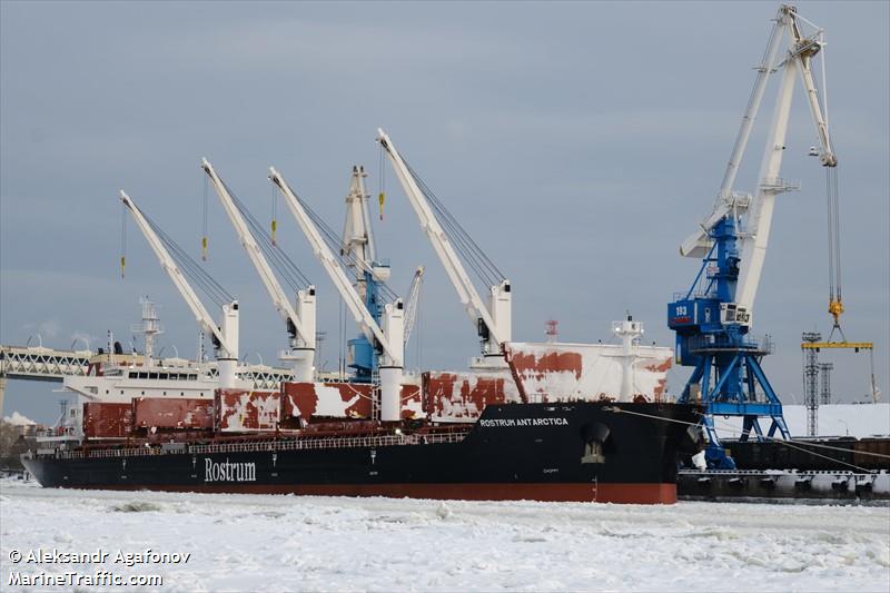
{"type": "Polygon", "coordinates": [[[160,267],[167,273],[174,286],[179,290],[182,299],[191,309],[195,319],[200,325],[201,329],[209,334],[216,349],[217,367],[219,373],[219,387],[222,389],[231,389],[241,386],[237,378],[238,367],[238,302],[226,293],[226,290],[216,283],[200,266],[194,261],[181,247],[176,245],[167,235],[142,211],[136,206],[132,198],[130,198],[122,189],[120,190],[120,200],[130,210],[130,214],[136,220],[136,225],[142,235],[146,237],[149,247],[155,251],[155,255],[160,261],[160,267]],[[174,250],[176,258],[170,254],[168,247],[174,250]],[[200,284],[217,305],[222,309],[220,324],[214,322],[212,316],[207,312],[207,308],[201,303],[198,295],[191,288],[186,279],[181,265],[187,268],[187,273],[200,284]]]}

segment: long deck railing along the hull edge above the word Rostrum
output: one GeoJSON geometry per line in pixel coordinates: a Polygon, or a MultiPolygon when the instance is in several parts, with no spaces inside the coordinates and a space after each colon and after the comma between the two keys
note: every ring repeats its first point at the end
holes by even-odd
{"type": "Polygon", "coordinates": [[[275,453],[279,451],[390,447],[399,445],[433,445],[459,443],[469,431],[446,433],[376,435],[376,436],[325,436],[304,437],[290,441],[254,441],[246,443],[214,443],[188,445],[184,449],[164,451],[159,447],[98,448],[90,451],[56,451],[57,458],[72,459],[85,457],[136,457],[144,455],[202,455],[211,453],[275,453]]]}

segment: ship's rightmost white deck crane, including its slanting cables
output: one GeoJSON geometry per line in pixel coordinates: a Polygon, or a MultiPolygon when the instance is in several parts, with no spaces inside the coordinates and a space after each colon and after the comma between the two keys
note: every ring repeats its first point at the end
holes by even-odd
{"type": "Polygon", "coordinates": [[[457,290],[457,297],[461,299],[464,310],[478,333],[483,356],[474,358],[471,362],[471,366],[479,369],[504,368],[506,362],[503,346],[512,338],[511,310],[513,295],[510,280],[482,253],[454,217],[436,199],[429,188],[405,162],[393,141],[382,129],[377,130],[377,141],[389,157],[396,176],[417,215],[421,228],[426,233],[429,243],[433,244],[439,261],[442,261],[448,278],[455,290],[457,290]],[[438,218],[436,213],[442,218],[438,218]],[[448,227],[448,231],[444,228],[443,223],[444,226],[448,227]],[[449,236],[483,281],[490,284],[487,305],[482,300],[473,280],[467,275],[449,236]]]}

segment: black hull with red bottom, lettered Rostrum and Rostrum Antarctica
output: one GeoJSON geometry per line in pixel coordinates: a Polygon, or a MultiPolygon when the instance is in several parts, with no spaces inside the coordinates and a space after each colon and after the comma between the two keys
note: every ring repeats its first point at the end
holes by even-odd
{"type": "Polygon", "coordinates": [[[690,405],[507,404],[487,407],[458,442],[293,448],[295,441],[267,438],[22,461],[44,487],[673,503],[679,455],[698,444],[685,424],[698,421],[696,412],[690,405]]]}

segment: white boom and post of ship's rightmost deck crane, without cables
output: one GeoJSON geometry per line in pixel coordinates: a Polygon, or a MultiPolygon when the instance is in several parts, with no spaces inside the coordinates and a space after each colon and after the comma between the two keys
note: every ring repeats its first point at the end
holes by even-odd
{"type": "Polygon", "coordinates": [[[486,307],[402,155],[382,129],[377,129],[377,140],[389,156],[396,176],[419,219],[421,228],[433,244],[433,249],[457,290],[464,310],[475,327],[482,329],[479,323],[485,325],[487,336],[483,334],[486,338],[483,346],[484,354],[492,357],[501,356],[502,345],[511,339],[510,281],[503,280],[491,287],[490,305],[486,307]]]}

